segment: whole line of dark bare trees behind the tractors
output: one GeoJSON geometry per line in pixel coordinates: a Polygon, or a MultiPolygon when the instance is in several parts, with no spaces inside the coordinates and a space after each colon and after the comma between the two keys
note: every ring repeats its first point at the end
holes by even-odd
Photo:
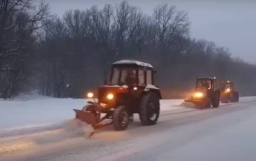
{"type": "Polygon", "coordinates": [[[152,15],[126,1],[103,8],[51,15],[32,0],[0,2],[0,97],[37,89],[42,95],[81,98],[108,78],[120,59],[156,68],[164,98],[178,98],[196,77],[236,82],[243,95],[255,95],[256,66],[234,59],[225,47],[189,34],[188,13],[156,6],[152,15]]]}

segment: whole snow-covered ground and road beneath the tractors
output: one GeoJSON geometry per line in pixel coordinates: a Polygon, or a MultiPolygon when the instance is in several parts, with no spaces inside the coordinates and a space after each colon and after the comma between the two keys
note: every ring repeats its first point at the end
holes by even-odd
{"type": "Polygon", "coordinates": [[[181,103],[161,100],[155,126],[142,127],[136,117],[123,132],[108,127],[88,139],[88,126],[70,120],[71,109],[84,100],[0,101],[0,160],[256,160],[256,97],[207,110],[181,103]],[[42,110],[38,117],[19,114],[22,110],[13,104],[42,110]],[[58,111],[63,112],[54,118],[58,111]],[[6,113],[14,113],[19,123],[6,113]]]}

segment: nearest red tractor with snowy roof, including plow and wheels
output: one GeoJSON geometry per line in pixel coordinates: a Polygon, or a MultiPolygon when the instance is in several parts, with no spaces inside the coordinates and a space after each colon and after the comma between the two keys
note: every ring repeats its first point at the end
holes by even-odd
{"type": "MultiPolygon", "coordinates": [[[[153,66],[140,61],[113,63],[108,84],[99,86],[97,102],[88,102],[82,110],[74,109],[76,118],[100,128],[111,119],[115,130],[125,130],[134,113],[142,125],[154,125],[159,118],[161,93],[154,85],[153,66]],[[104,115],[102,117],[102,115],[104,115]]],[[[93,93],[88,93],[93,98],[93,93]]]]}

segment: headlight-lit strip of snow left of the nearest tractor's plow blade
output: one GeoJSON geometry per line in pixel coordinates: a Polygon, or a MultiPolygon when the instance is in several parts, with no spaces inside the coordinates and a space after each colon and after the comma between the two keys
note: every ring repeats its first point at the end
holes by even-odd
{"type": "MultiPolygon", "coordinates": [[[[12,137],[0,137],[0,157],[10,155],[32,148],[40,148],[45,145],[61,142],[63,140],[72,139],[75,137],[88,136],[92,127],[88,126],[77,119],[67,121],[61,127],[51,127],[38,129],[35,131],[26,131],[26,135],[15,135],[12,137]]],[[[6,133],[7,134],[7,133],[6,133]]]]}

